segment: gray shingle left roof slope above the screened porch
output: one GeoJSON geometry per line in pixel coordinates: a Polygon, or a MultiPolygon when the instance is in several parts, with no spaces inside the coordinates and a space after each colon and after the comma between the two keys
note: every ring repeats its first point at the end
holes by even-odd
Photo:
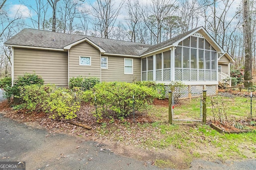
{"type": "Polygon", "coordinates": [[[149,47],[146,51],[144,51],[141,55],[146,54],[146,53],[150,53],[152,51],[155,51],[155,50],[158,50],[158,49],[161,49],[161,48],[164,48],[164,47],[166,47],[168,45],[172,45],[173,43],[175,43],[177,41],[180,41],[180,39],[186,37],[187,35],[189,35],[193,31],[195,31],[196,29],[198,29],[198,28],[192,29],[192,30],[190,30],[190,31],[188,31],[186,33],[183,33],[181,35],[178,35],[176,37],[173,37],[171,39],[163,41],[162,43],[158,43],[156,45],[153,45],[153,46],[149,47]]]}

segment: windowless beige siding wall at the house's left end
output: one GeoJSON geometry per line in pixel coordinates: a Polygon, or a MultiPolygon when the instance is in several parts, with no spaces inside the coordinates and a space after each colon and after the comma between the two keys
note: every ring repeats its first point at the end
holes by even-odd
{"type": "Polygon", "coordinates": [[[14,80],[26,72],[36,72],[42,76],[45,84],[67,86],[68,53],[14,48],[14,80]]]}

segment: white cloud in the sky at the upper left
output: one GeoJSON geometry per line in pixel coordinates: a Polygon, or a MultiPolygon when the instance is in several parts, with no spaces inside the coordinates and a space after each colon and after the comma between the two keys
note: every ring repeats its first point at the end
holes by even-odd
{"type": "Polygon", "coordinates": [[[10,7],[8,15],[10,18],[27,18],[30,16],[30,10],[22,4],[14,4],[10,7]]]}

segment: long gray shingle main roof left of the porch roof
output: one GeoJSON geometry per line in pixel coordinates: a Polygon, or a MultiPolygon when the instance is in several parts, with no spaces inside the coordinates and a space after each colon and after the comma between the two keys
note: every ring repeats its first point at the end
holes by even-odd
{"type": "Polygon", "coordinates": [[[12,38],[6,41],[5,44],[63,49],[63,47],[86,37],[104,49],[106,53],[113,54],[140,55],[146,51],[148,47],[152,46],[148,44],[133,43],[128,41],[104,39],[76,34],[57,33],[29,28],[25,28],[20,31],[18,34],[14,35],[12,38]]]}

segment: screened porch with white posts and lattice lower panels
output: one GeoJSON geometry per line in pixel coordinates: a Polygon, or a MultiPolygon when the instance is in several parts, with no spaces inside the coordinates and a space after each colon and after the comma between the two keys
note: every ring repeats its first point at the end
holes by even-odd
{"type": "Polygon", "coordinates": [[[142,81],[218,84],[218,53],[202,35],[186,37],[166,50],[141,59],[142,81]]]}

